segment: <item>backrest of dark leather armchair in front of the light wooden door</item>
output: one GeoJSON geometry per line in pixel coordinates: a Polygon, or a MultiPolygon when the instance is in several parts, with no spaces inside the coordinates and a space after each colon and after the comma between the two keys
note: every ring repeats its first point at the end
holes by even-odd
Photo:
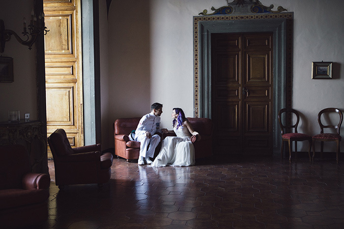
{"type": "Polygon", "coordinates": [[[55,132],[49,136],[48,142],[54,158],[74,153],[64,129],[55,130],[55,132]]]}

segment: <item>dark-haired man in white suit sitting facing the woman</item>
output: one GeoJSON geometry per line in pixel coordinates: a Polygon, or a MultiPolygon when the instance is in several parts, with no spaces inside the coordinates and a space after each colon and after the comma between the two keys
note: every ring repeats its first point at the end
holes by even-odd
{"type": "Polygon", "coordinates": [[[155,148],[160,142],[160,136],[155,133],[166,133],[168,129],[160,129],[160,115],[163,113],[163,104],[155,102],[151,105],[151,112],[144,115],[138,127],[135,130],[135,141],[141,143],[140,156],[138,160],[139,165],[153,163],[149,157],[154,156],[155,148]],[[147,150],[147,147],[149,148],[147,150]]]}

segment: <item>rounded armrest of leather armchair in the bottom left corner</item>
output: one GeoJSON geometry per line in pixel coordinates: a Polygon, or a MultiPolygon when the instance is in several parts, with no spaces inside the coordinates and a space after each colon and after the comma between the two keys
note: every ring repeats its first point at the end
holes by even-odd
{"type": "Polygon", "coordinates": [[[23,189],[47,189],[50,186],[50,178],[44,173],[27,173],[22,178],[23,189]]]}

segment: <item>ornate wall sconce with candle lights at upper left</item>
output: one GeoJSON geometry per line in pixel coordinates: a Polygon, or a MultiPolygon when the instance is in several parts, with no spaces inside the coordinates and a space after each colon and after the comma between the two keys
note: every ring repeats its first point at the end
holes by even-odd
{"type": "Polygon", "coordinates": [[[38,34],[41,32],[44,32],[44,35],[47,34],[48,31],[47,27],[45,26],[44,23],[44,13],[42,12],[39,16],[38,19],[36,15],[34,15],[34,12],[32,10],[31,12],[31,20],[30,24],[28,25],[28,30],[26,27],[26,19],[24,18],[24,31],[22,32],[23,36],[26,37],[26,39],[22,39],[18,36],[18,34],[10,29],[5,29],[5,25],[3,23],[3,20],[0,20],[0,52],[2,53],[5,50],[5,43],[9,40],[11,40],[11,36],[13,35],[17,41],[22,44],[26,45],[29,47],[29,50],[31,50],[31,46],[36,40],[36,37],[38,34]],[[29,38],[29,36],[31,36],[29,38]]]}

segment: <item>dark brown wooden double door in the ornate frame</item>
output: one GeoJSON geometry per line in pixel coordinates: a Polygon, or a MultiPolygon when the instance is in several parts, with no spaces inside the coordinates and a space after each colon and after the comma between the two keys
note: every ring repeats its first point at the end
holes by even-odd
{"type": "Polygon", "coordinates": [[[211,34],[214,154],[272,154],[273,34],[211,34]]]}

